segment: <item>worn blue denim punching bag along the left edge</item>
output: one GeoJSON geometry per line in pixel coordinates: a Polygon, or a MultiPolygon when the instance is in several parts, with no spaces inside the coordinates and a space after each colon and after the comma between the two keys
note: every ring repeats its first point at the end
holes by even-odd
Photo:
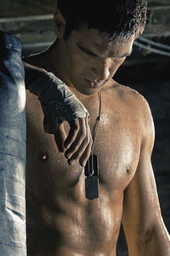
{"type": "Polygon", "coordinates": [[[26,255],[26,94],[20,40],[0,30],[0,256],[26,255]]]}

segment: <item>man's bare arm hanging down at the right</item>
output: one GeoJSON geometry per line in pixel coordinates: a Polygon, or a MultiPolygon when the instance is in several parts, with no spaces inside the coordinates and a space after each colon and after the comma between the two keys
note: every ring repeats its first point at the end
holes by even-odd
{"type": "MultiPolygon", "coordinates": [[[[147,102],[145,107],[150,113],[147,102]]],[[[145,123],[137,170],[124,191],[122,224],[130,256],[170,255],[170,236],[161,216],[150,162],[154,137],[153,122],[145,123]]]]}

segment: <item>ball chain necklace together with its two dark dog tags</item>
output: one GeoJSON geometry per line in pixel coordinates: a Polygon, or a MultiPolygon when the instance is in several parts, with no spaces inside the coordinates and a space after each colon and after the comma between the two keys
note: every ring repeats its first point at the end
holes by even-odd
{"type": "MultiPolygon", "coordinates": [[[[50,58],[50,47],[48,48],[48,59],[51,64],[51,67],[57,77],[59,75],[57,74],[55,68],[52,65],[52,61],[50,58]]],[[[96,136],[98,133],[98,126],[101,118],[101,110],[102,110],[102,89],[100,89],[100,99],[99,99],[99,112],[98,117],[96,118],[96,131],[94,133],[93,142],[92,142],[92,148],[90,157],[87,160],[85,164],[85,197],[87,199],[93,200],[98,198],[99,196],[99,190],[98,190],[98,156],[93,154],[94,144],[96,141],[96,136]]]]}

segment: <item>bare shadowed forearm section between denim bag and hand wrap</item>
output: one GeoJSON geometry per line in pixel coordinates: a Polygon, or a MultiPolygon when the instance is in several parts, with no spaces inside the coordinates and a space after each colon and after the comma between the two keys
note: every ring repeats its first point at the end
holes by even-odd
{"type": "Polygon", "coordinates": [[[41,67],[35,67],[23,61],[25,69],[25,87],[28,90],[30,84],[33,83],[41,75],[46,74],[47,71],[41,67]]]}

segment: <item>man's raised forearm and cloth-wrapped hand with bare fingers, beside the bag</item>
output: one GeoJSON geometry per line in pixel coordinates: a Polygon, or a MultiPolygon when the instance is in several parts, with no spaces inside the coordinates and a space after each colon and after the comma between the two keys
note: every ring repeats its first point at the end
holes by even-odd
{"type": "Polygon", "coordinates": [[[92,136],[88,125],[87,110],[62,81],[54,81],[55,76],[53,74],[51,74],[52,81],[48,83],[46,79],[43,79],[43,75],[47,73],[46,70],[27,64],[26,62],[23,62],[23,64],[25,67],[26,89],[31,88],[30,92],[39,96],[45,115],[44,128],[46,133],[54,134],[57,147],[60,152],[65,152],[65,157],[68,159],[69,165],[79,160],[80,165],[85,166],[92,147],[92,136]],[[41,77],[42,81],[40,80],[34,83],[36,79],[41,79],[41,77]],[[50,88],[50,83],[52,82],[56,84],[54,84],[50,93],[44,93],[45,90],[47,91],[50,88]],[[59,82],[59,89],[57,89],[59,82]],[[34,83],[34,86],[31,85],[32,83],[34,83]],[[65,89],[68,99],[67,97],[64,99],[65,89]],[[82,117],[83,115],[86,116],[82,117]],[[68,136],[65,133],[63,121],[59,117],[68,121],[70,125],[68,136]]]}

